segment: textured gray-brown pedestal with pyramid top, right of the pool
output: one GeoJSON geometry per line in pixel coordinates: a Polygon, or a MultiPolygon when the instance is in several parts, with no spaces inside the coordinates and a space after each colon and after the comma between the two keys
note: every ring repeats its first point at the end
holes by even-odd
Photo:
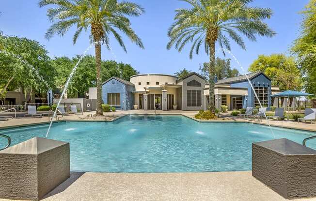
{"type": "Polygon", "coordinates": [[[316,196],[316,150],[285,138],[253,143],[253,176],[286,199],[316,196]]]}

